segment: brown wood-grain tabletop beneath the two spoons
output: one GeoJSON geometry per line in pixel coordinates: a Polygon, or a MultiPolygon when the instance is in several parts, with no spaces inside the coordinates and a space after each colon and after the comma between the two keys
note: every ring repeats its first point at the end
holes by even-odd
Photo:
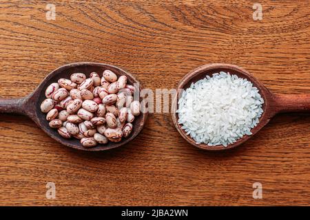
{"type": "MultiPolygon", "coordinates": [[[[310,1],[0,1],[0,97],[22,97],[53,69],[93,61],[144,87],[175,88],[206,63],[232,63],[271,91],[310,92],[310,1]]],[[[277,115],[249,142],[209,153],[151,114],[138,137],[101,153],[61,146],[30,119],[0,115],[0,205],[309,205],[310,118],[277,115]],[[56,184],[56,199],[45,184],[56,184]],[[263,199],[253,199],[260,182],[263,199]]]]}

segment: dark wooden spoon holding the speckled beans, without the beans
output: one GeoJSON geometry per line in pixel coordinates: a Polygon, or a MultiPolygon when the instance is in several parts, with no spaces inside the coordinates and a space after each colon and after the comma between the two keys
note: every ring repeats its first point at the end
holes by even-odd
{"type": "MultiPolygon", "coordinates": [[[[13,99],[0,99],[0,113],[17,113],[21,115],[27,115],[31,118],[37,125],[45,131],[50,137],[52,137],[57,142],[64,144],[65,146],[70,146],[72,148],[76,148],[83,151],[105,151],[111,148],[116,148],[118,146],[122,146],[130,142],[131,140],[140,133],[143,129],[143,126],[147,120],[147,111],[145,113],[141,113],[136,117],[133,122],[134,130],[130,134],[129,137],[123,138],[121,142],[113,143],[109,142],[108,144],[99,144],[93,148],[84,148],[80,141],[72,138],[72,139],[65,139],[59,135],[56,129],[50,128],[48,125],[48,121],[45,119],[46,114],[41,112],[40,105],[41,102],[45,99],[45,89],[51,84],[55,83],[59,80],[59,78],[69,78],[70,75],[76,72],[81,72],[86,74],[88,77],[90,73],[97,72],[98,74],[102,74],[105,69],[110,69],[114,72],[117,76],[125,75],[127,76],[129,85],[134,85],[134,83],[138,84],[138,80],[134,78],[131,74],[125,72],[123,69],[118,67],[101,64],[101,63],[70,63],[68,65],[64,65],[55,69],[53,72],[48,74],[43,82],[37,87],[37,89],[26,96],[25,98],[13,98],[13,99]]],[[[139,86],[141,89],[141,85],[139,86]]],[[[140,101],[143,101],[141,98],[140,101]]],[[[144,104],[144,108],[147,108],[146,102],[141,102],[144,104]]]]}

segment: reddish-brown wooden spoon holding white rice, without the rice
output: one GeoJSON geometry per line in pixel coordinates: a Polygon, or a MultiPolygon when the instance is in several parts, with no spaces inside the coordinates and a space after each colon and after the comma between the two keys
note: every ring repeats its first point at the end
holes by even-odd
{"type": "Polygon", "coordinates": [[[310,94],[272,94],[262,83],[259,83],[254,76],[251,76],[249,72],[245,69],[242,69],[236,65],[215,63],[211,65],[203,65],[194,69],[192,72],[189,72],[179,83],[176,91],[176,96],[172,101],[172,120],[176,129],[184,137],[189,144],[192,144],[198,148],[203,148],[209,151],[219,151],[226,150],[229,148],[234,148],[247,140],[250,137],[254,136],[263,126],[265,126],[271,118],[273,118],[276,113],[287,112],[287,111],[310,111],[310,94]],[[178,124],[178,98],[181,97],[183,89],[190,87],[192,83],[196,83],[198,80],[205,78],[207,75],[211,76],[214,73],[218,72],[229,72],[230,74],[235,74],[240,78],[247,78],[251,81],[255,87],[260,91],[260,95],[265,100],[265,103],[262,105],[264,113],[259,119],[259,123],[254,129],[251,129],[252,135],[244,135],[242,138],[237,140],[234,144],[229,144],[227,147],[223,145],[218,146],[208,146],[207,144],[196,144],[195,140],[192,139],[186,132],[181,129],[181,125],[178,124]]]}

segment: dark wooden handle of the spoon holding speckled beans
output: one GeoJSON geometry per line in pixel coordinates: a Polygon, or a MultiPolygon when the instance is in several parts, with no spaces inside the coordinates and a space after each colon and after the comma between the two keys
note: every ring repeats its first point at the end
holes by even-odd
{"type": "Polygon", "coordinates": [[[0,98],[0,113],[16,113],[24,115],[24,98],[0,98]]]}

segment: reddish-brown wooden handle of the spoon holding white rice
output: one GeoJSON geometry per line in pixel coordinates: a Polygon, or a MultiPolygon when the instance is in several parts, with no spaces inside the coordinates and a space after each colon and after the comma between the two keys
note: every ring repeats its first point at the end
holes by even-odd
{"type": "Polygon", "coordinates": [[[278,112],[310,111],[310,94],[277,94],[278,112]]]}

